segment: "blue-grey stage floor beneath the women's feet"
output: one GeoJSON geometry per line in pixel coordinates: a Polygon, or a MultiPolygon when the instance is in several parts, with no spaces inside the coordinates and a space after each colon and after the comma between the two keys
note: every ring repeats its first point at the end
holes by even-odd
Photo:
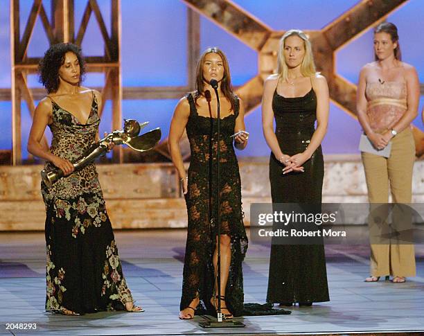
{"type": "MultiPolygon", "coordinates": [[[[369,275],[369,248],[326,247],[328,303],[290,308],[291,315],[244,317],[245,328],[204,329],[202,317],[178,319],[185,230],[116,231],[123,271],[143,313],[68,317],[44,312],[44,233],[0,233],[0,335],[275,335],[424,331],[424,246],[417,276],[395,284],[369,275]],[[19,324],[12,324],[19,322],[19,324]],[[8,325],[10,324],[10,325],[8,325]],[[35,330],[22,330],[37,324],[35,330]],[[6,326],[14,329],[6,330],[6,326]]],[[[245,302],[265,302],[270,247],[249,245],[243,265],[245,302]]]]}

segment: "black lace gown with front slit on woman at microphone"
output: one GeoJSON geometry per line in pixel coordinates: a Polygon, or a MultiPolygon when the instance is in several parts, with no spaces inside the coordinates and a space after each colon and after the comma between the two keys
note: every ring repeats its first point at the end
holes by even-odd
{"type": "MultiPolygon", "coordinates": [[[[180,310],[199,297],[197,314],[211,308],[214,272],[212,257],[215,250],[217,193],[217,118],[197,114],[192,94],[186,96],[190,103],[190,116],[186,125],[190,141],[191,160],[188,168],[188,193],[186,206],[188,232],[184,258],[182,298],[180,310]],[[212,183],[209,183],[212,181],[212,183]]],[[[231,265],[226,288],[227,308],[234,316],[243,311],[242,260],[247,250],[247,236],[243,224],[240,173],[233,148],[238,98],[233,114],[220,121],[220,232],[231,238],[231,265]]]]}

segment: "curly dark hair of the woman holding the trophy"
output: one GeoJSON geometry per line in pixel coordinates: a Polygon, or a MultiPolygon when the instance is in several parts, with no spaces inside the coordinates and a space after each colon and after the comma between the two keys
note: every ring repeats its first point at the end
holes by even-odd
{"type": "Polygon", "coordinates": [[[47,92],[56,92],[59,89],[59,68],[64,63],[64,55],[71,51],[78,58],[80,63],[80,82],[85,73],[85,61],[82,58],[81,48],[73,43],[53,44],[44,54],[44,58],[39,61],[39,82],[44,85],[47,92]]]}

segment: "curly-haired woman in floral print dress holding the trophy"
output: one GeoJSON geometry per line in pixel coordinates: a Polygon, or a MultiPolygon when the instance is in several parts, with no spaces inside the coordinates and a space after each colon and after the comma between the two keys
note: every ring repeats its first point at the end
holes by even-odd
{"type": "Polygon", "coordinates": [[[64,315],[114,309],[141,312],[122,273],[96,166],[91,163],[73,172],[71,164],[98,141],[101,96],[80,87],[84,60],[74,44],[51,46],[39,70],[48,96],[35,109],[28,152],[46,160],[46,170],[60,168],[65,174],[51,188],[42,183],[46,310],[64,315]],[[51,148],[42,143],[47,125],[53,134],[51,148]]]}

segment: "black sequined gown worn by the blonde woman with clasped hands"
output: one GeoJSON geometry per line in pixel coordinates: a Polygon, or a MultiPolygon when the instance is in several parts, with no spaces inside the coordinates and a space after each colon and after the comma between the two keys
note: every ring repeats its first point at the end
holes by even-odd
{"type": "MultiPolygon", "coordinates": [[[[272,109],[276,138],[283,153],[306,150],[315,131],[317,96],[310,89],[302,97],[285,98],[274,91],[272,109]]],[[[304,173],[283,175],[283,164],[270,157],[273,203],[321,203],[324,160],[321,146],[303,164],[304,173]]],[[[267,302],[312,303],[330,301],[324,245],[272,245],[267,302]]]]}

